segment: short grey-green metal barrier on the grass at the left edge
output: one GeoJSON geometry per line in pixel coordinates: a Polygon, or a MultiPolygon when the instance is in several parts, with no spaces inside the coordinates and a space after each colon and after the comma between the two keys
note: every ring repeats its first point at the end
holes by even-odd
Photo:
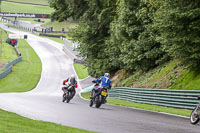
{"type": "Polygon", "coordinates": [[[16,63],[20,62],[22,60],[22,57],[18,57],[17,59],[9,62],[2,73],[0,73],[0,79],[4,78],[6,75],[8,75],[12,71],[12,66],[16,63]]]}

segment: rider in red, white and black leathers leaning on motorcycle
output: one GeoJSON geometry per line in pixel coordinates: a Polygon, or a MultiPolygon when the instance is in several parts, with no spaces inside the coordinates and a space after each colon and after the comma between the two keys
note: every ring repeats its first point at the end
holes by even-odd
{"type": "MultiPolygon", "coordinates": [[[[76,94],[76,90],[75,88],[74,89],[70,89],[68,90],[68,88],[70,87],[70,85],[73,84],[75,88],[78,87],[77,85],[77,81],[76,81],[76,78],[74,75],[71,75],[71,77],[67,78],[66,80],[63,81],[63,85],[66,85],[65,87],[62,87],[62,90],[64,92],[64,94],[68,93],[69,94],[69,91],[71,91],[72,93],[72,98],[74,97],[74,95],[76,94]]],[[[72,99],[71,98],[71,99],[72,99]]]]}

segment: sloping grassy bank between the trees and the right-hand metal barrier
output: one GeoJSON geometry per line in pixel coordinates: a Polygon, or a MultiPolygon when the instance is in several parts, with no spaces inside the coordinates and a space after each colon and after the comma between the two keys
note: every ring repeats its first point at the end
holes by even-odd
{"type": "Polygon", "coordinates": [[[171,60],[148,72],[121,70],[112,80],[114,86],[131,88],[200,90],[200,72],[189,70],[179,60],[171,60]]]}

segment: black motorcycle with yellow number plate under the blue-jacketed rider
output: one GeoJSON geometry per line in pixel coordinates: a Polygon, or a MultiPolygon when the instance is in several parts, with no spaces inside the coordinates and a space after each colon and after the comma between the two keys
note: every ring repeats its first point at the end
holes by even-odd
{"type": "Polygon", "coordinates": [[[89,106],[92,107],[95,104],[96,108],[99,108],[102,104],[106,103],[106,98],[108,95],[107,87],[95,86],[92,90],[92,98],[90,100],[89,106]]]}

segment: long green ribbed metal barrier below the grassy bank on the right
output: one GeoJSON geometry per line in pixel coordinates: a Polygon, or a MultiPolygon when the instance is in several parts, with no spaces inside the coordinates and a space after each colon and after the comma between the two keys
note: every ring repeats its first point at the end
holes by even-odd
{"type": "Polygon", "coordinates": [[[182,109],[193,109],[199,102],[197,96],[200,96],[198,90],[117,87],[109,91],[111,98],[182,109]]]}

